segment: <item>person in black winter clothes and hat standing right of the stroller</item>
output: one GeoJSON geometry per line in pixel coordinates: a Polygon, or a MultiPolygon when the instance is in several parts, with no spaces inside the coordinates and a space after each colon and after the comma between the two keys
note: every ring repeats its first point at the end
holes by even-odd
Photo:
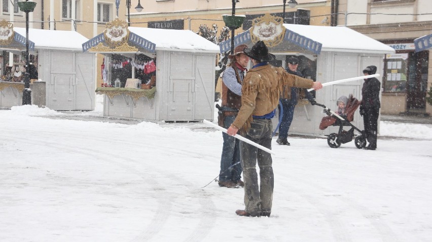
{"type": "MultiPolygon", "coordinates": [[[[377,71],[376,66],[368,66],[363,70],[365,76],[373,75],[377,71]]],[[[381,104],[379,101],[379,91],[381,83],[375,77],[365,78],[362,88],[362,103],[360,105],[360,115],[363,116],[365,125],[366,139],[369,144],[364,149],[377,149],[378,116],[381,104]]]]}

